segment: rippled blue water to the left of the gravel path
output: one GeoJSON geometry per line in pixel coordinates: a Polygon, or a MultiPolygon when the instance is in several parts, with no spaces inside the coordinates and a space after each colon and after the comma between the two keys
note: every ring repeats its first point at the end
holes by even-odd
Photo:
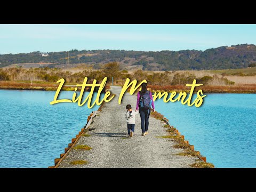
{"type": "MultiPolygon", "coordinates": [[[[59,99],[71,99],[63,91],[59,99]]],[[[55,91],[0,90],[0,167],[47,167],[54,165],[71,138],[99,106],[87,103],[50,105],[55,91]]],[[[84,93],[87,95],[88,92],[84,93]]],[[[95,95],[94,95],[95,97],[95,95]]],[[[85,97],[84,97],[85,98],[85,97]]]]}

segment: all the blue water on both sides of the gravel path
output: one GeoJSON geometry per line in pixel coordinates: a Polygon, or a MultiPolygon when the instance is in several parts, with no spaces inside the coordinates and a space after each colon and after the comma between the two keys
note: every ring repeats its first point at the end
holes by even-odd
{"type": "MultiPolygon", "coordinates": [[[[99,107],[50,105],[54,94],[0,90],[0,167],[53,165],[99,107]]],[[[72,95],[65,91],[59,99],[72,95]]],[[[216,167],[256,167],[256,94],[207,94],[199,108],[162,99],[155,103],[207,162],[216,167]]]]}

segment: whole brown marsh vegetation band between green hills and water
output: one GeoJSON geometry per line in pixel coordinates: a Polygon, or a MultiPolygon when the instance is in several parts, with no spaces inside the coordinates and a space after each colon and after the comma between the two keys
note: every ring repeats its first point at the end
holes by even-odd
{"type": "MultiPolygon", "coordinates": [[[[250,68],[254,70],[255,68],[250,68]]],[[[239,70],[239,69],[236,69],[239,70]]],[[[225,71],[225,70],[224,70],[225,71]]],[[[107,86],[114,77],[115,85],[123,85],[126,78],[137,79],[141,82],[146,79],[153,91],[189,91],[186,84],[191,84],[194,79],[198,84],[203,84],[202,89],[207,93],[255,93],[255,76],[230,76],[211,73],[209,70],[197,71],[131,71],[122,70],[117,62],[107,63],[100,70],[93,69],[59,69],[59,68],[3,68],[0,69],[0,89],[27,89],[27,90],[55,90],[56,82],[64,78],[67,84],[81,84],[84,77],[87,83],[97,79],[100,83],[103,77],[108,77],[107,86]]],[[[66,87],[65,90],[74,90],[66,87]]],[[[197,89],[196,89],[197,90],[197,89]]],[[[195,91],[196,91],[195,90],[195,91]]]]}

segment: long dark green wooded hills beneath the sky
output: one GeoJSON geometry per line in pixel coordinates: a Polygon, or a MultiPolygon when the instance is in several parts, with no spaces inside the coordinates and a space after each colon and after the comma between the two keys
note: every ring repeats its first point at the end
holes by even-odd
{"type": "MultiPolygon", "coordinates": [[[[49,63],[49,67],[66,67],[67,52],[41,52],[2,54],[0,67],[18,63],[49,63]],[[54,63],[54,64],[50,64],[54,63]]],[[[122,68],[141,66],[143,70],[203,70],[247,68],[256,63],[256,46],[251,44],[222,46],[205,51],[124,51],[124,50],[71,50],[70,67],[86,63],[95,69],[103,64],[117,61],[122,68]]],[[[45,65],[43,65],[45,66],[45,65]]]]}

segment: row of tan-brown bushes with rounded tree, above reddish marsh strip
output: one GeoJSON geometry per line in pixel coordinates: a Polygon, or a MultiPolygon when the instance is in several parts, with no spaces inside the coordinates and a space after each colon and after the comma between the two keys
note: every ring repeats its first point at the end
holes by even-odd
{"type": "Polygon", "coordinates": [[[83,70],[76,73],[65,71],[58,68],[2,68],[0,69],[0,81],[39,81],[39,82],[57,82],[64,78],[66,83],[82,83],[84,77],[89,81],[97,79],[101,81],[104,77],[108,78],[108,83],[114,77],[116,85],[123,85],[126,78],[131,80],[143,81],[144,79],[150,85],[186,85],[191,84],[194,79],[197,83],[204,85],[233,85],[234,82],[228,81],[227,78],[220,78],[217,75],[196,77],[192,73],[175,73],[165,71],[165,73],[154,73],[152,71],[137,70],[129,73],[121,70],[118,62],[107,63],[101,70],[83,70]]]}

